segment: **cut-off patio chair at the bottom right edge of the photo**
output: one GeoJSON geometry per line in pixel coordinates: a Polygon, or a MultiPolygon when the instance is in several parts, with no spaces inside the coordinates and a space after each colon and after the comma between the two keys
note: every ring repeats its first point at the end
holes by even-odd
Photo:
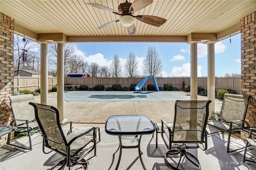
{"type": "Polygon", "coordinates": [[[245,161],[247,162],[252,162],[256,164],[256,158],[255,156],[251,156],[251,159],[246,159],[246,152],[248,152],[249,150],[256,150],[256,128],[250,128],[250,133],[248,138],[246,139],[246,145],[244,148],[244,160],[243,162],[245,163],[245,161]],[[252,138],[252,135],[254,136],[254,138],[252,138]]]}

